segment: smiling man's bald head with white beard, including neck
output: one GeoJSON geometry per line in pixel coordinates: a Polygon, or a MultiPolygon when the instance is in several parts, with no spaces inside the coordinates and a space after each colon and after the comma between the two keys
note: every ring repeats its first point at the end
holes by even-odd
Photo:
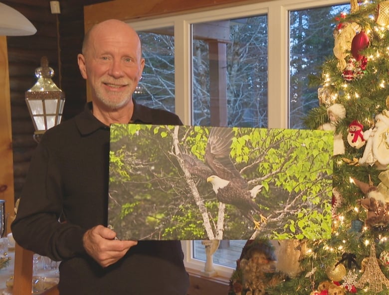
{"type": "Polygon", "coordinates": [[[93,115],[106,125],[128,123],[145,66],[137,32],[117,19],[100,22],[85,34],[77,60],[91,89],[93,115]]]}

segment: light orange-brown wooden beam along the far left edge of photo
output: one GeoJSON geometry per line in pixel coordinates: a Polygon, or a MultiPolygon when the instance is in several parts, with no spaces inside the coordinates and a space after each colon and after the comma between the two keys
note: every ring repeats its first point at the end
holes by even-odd
{"type": "MultiPolygon", "coordinates": [[[[0,36],[0,199],[5,200],[6,216],[14,215],[13,157],[11,131],[11,103],[9,95],[9,71],[7,41],[0,36]]],[[[7,218],[6,233],[10,232],[7,218]]]]}

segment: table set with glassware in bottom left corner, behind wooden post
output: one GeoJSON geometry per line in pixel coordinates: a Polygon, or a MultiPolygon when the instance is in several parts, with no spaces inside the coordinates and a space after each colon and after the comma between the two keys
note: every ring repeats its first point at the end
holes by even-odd
{"type": "MultiPolygon", "coordinates": [[[[6,282],[13,276],[13,265],[15,262],[15,251],[13,248],[8,248],[7,256],[11,258],[8,265],[5,268],[0,269],[0,295],[12,295],[12,289],[6,287],[6,282]]],[[[42,293],[43,291],[58,284],[58,281],[58,270],[43,269],[43,264],[39,256],[36,265],[36,276],[33,276],[32,281],[34,292],[31,293],[38,295],[39,293],[42,293]]]]}

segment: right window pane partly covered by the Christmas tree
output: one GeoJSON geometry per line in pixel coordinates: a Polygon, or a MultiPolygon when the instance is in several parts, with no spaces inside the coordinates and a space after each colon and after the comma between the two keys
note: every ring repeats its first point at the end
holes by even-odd
{"type": "Polygon", "coordinates": [[[302,129],[302,118],[319,106],[317,89],[309,88],[309,75],[319,73],[333,54],[334,17],[349,12],[350,5],[290,11],[290,106],[289,126],[302,129]]]}

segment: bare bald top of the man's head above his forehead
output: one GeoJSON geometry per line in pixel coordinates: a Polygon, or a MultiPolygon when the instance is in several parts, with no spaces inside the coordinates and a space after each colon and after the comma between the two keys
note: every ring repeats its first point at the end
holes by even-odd
{"type": "Polygon", "coordinates": [[[136,40],[135,42],[139,43],[139,54],[142,56],[142,46],[141,40],[138,33],[127,23],[118,19],[107,19],[100,23],[93,25],[84,36],[84,41],[82,43],[82,54],[87,55],[87,51],[93,46],[93,40],[96,39],[96,36],[105,36],[120,34],[122,38],[129,38],[136,40]]]}

